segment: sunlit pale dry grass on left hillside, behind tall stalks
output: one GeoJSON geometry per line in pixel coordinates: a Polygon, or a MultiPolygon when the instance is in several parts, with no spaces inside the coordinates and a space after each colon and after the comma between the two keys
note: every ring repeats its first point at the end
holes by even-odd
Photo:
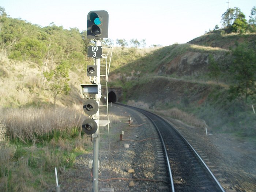
{"type": "MultiPolygon", "coordinates": [[[[42,83],[42,68],[27,62],[9,60],[0,52],[0,106],[20,107],[30,104],[37,106],[49,106],[53,103],[52,91],[47,84],[42,83]],[[41,89],[42,88],[42,89],[41,89]]],[[[58,106],[72,106],[79,103],[79,84],[89,83],[88,77],[79,72],[69,71],[69,86],[72,87],[69,95],[57,96],[58,106]],[[82,78],[81,78],[82,76],[82,78]]]]}

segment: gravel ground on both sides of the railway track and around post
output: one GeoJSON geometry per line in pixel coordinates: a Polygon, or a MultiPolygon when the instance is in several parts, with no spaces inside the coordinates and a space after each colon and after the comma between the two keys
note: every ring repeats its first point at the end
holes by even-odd
{"type": "MultiPolygon", "coordinates": [[[[114,180],[99,181],[99,191],[168,191],[165,182],[154,182],[166,181],[166,178],[159,173],[156,147],[159,140],[154,139],[158,135],[150,121],[138,112],[132,112],[131,109],[118,105],[109,108],[109,114],[112,121],[110,124],[111,170],[108,163],[109,153],[102,147],[100,168],[102,170],[99,179],[111,177],[114,180]],[[128,125],[129,116],[132,117],[133,126],[128,125]],[[120,141],[122,131],[124,131],[124,139],[148,140],[120,141]],[[129,148],[125,148],[124,144],[129,144],[129,148]]],[[[202,128],[165,118],[189,140],[199,155],[202,155],[226,191],[256,191],[255,146],[239,142],[225,134],[212,133],[206,136],[202,128]]],[[[60,175],[61,191],[91,192],[93,183],[88,165],[92,159],[93,152],[76,158],[74,169],[66,170],[60,175]]]]}

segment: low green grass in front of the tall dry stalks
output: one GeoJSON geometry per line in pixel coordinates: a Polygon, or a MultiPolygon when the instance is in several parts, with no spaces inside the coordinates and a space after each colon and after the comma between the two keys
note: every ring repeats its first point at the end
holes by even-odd
{"type": "Polygon", "coordinates": [[[37,145],[1,142],[0,191],[49,191],[55,183],[54,167],[61,174],[74,166],[78,155],[91,150],[91,142],[79,136],[37,145]]]}

